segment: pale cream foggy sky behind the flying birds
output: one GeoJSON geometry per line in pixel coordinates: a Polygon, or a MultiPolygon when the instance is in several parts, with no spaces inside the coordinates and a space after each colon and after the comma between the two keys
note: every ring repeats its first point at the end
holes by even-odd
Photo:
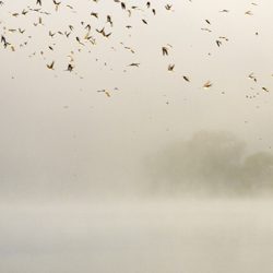
{"type": "Polygon", "coordinates": [[[71,0],[56,11],[51,1],[16,0],[0,7],[1,35],[10,44],[0,47],[5,198],[145,191],[155,179],[147,162],[203,131],[212,139],[232,133],[245,142],[245,157],[271,153],[272,1],[166,4],[126,1],[122,10],[114,1],[71,0]],[[95,45],[84,39],[88,24],[95,45]],[[108,38],[98,33],[103,27],[108,38]],[[69,63],[72,72],[64,71],[69,63]],[[212,86],[203,88],[207,81],[212,86]]]}

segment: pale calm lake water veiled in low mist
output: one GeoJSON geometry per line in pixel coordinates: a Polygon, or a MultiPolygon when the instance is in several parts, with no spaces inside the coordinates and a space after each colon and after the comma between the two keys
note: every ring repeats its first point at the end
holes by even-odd
{"type": "Polygon", "coordinates": [[[272,273],[273,202],[1,204],[3,273],[272,273]]]}

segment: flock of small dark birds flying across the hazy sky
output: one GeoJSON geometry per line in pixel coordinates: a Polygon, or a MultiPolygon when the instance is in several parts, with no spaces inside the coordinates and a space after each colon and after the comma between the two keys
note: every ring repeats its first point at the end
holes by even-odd
{"type": "MultiPolygon", "coordinates": [[[[140,23],[142,23],[144,25],[149,25],[149,23],[150,23],[147,20],[147,16],[146,16],[147,12],[152,16],[157,15],[157,10],[155,9],[155,7],[153,5],[153,3],[151,1],[146,1],[144,3],[139,2],[138,5],[131,5],[126,0],[112,0],[112,1],[117,4],[117,7],[119,7],[121,12],[124,12],[128,15],[128,19],[132,17],[134,15],[134,13],[138,13],[138,17],[140,19],[140,23]]],[[[188,1],[191,2],[191,0],[188,0],[188,1]]],[[[73,44],[73,46],[76,45],[76,46],[74,46],[74,49],[71,50],[66,56],[66,58],[68,57],[69,60],[67,62],[67,67],[63,68],[63,70],[71,73],[71,72],[75,72],[75,68],[76,68],[75,52],[78,54],[78,52],[85,51],[86,48],[87,48],[87,51],[91,52],[92,47],[97,46],[99,44],[98,40],[100,39],[100,37],[105,38],[105,39],[111,39],[111,37],[114,35],[114,26],[116,23],[114,15],[107,14],[106,16],[100,16],[100,14],[97,11],[95,11],[96,5],[98,4],[99,0],[88,0],[88,2],[91,4],[91,10],[88,13],[90,19],[87,21],[78,22],[79,23],[78,26],[75,26],[74,24],[68,24],[66,29],[54,31],[52,28],[48,27],[47,28],[48,37],[50,37],[50,39],[51,39],[50,45],[48,45],[43,50],[34,51],[32,55],[29,55],[29,57],[40,55],[44,57],[44,60],[46,60],[46,63],[45,63],[46,68],[48,70],[56,70],[58,67],[57,61],[56,60],[48,60],[46,58],[46,56],[48,52],[55,51],[55,48],[56,48],[57,43],[58,43],[58,37],[62,36],[62,37],[69,39],[71,44],[75,43],[75,44],[73,44]],[[95,21],[99,21],[102,26],[100,27],[94,26],[95,21]],[[79,26],[80,26],[80,28],[79,28],[79,26]],[[78,32],[78,29],[79,29],[79,32],[78,32]]],[[[78,13],[76,9],[73,5],[68,4],[67,1],[62,2],[62,1],[52,0],[50,5],[48,5],[48,4],[49,4],[49,0],[47,0],[47,1],[33,0],[32,5],[27,5],[26,8],[24,8],[21,11],[9,11],[9,13],[10,13],[9,16],[17,19],[17,17],[27,17],[27,16],[32,16],[33,14],[35,14],[36,19],[35,19],[35,22],[32,22],[32,24],[31,24],[32,27],[41,26],[43,28],[46,28],[47,25],[45,23],[45,17],[50,16],[54,12],[58,13],[58,12],[64,10],[64,11],[70,12],[71,14],[78,13]],[[50,9],[50,10],[48,10],[48,9],[50,9]]],[[[5,2],[0,1],[0,9],[2,9],[3,5],[5,5],[5,2]]],[[[257,5],[257,3],[252,2],[251,5],[254,7],[254,5],[257,5]]],[[[162,8],[162,10],[165,10],[166,12],[174,12],[175,11],[174,4],[171,4],[171,3],[163,3],[161,8],[162,8]]],[[[229,10],[223,9],[223,10],[219,10],[218,12],[228,13],[229,10]]],[[[252,16],[253,13],[251,10],[248,10],[245,12],[245,15],[252,16]]],[[[76,17],[81,20],[81,16],[76,16],[76,17]]],[[[32,16],[32,19],[33,19],[33,16],[32,16]]],[[[149,19],[151,19],[151,17],[149,17],[149,19]]],[[[19,22],[22,23],[21,20],[19,20],[19,22]]],[[[206,26],[202,27],[201,31],[211,33],[212,32],[211,20],[204,19],[204,24],[206,26]]],[[[0,25],[2,25],[2,32],[0,33],[0,36],[1,36],[0,45],[1,45],[2,49],[11,50],[11,51],[15,52],[20,49],[25,48],[29,44],[29,40],[32,39],[31,29],[22,28],[20,26],[9,27],[5,25],[5,22],[3,22],[3,21],[0,21],[0,25]],[[23,41],[21,39],[19,44],[15,44],[16,39],[14,38],[14,34],[22,35],[24,37],[23,41]]],[[[132,27],[134,27],[133,24],[126,24],[124,31],[126,29],[129,31],[132,27]]],[[[254,35],[258,36],[259,33],[256,32],[254,35]]],[[[215,46],[222,47],[223,44],[227,43],[228,40],[229,39],[226,36],[218,36],[217,39],[215,40],[215,46]]],[[[128,50],[132,55],[135,55],[134,48],[126,46],[126,44],[122,41],[120,41],[120,45],[123,47],[123,49],[128,50]]],[[[115,50],[115,47],[111,46],[111,49],[115,50]]],[[[170,55],[171,50],[173,50],[173,45],[170,45],[170,44],[166,44],[166,45],[163,45],[161,47],[161,54],[163,57],[168,57],[170,55]]],[[[97,59],[96,59],[96,61],[97,61],[97,59]]],[[[105,63],[105,66],[106,66],[106,63],[105,63]]],[[[135,61],[128,63],[128,68],[132,68],[132,67],[140,68],[140,66],[141,66],[141,63],[135,62],[135,61]]],[[[175,63],[169,63],[166,70],[168,72],[174,72],[175,67],[176,67],[175,63]]],[[[257,76],[254,75],[253,72],[249,73],[248,78],[256,83],[258,82],[257,76]]],[[[182,79],[188,83],[191,82],[190,75],[183,74],[182,79]]],[[[212,86],[213,86],[212,80],[204,81],[204,83],[202,85],[203,88],[210,88],[212,86]]],[[[117,90],[118,90],[118,87],[115,87],[115,91],[117,91],[117,90]]],[[[270,90],[266,86],[261,86],[261,90],[264,92],[270,92],[270,90]]],[[[106,88],[99,90],[98,92],[103,92],[108,97],[110,97],[110,91],[108,91],[106,88]]],[[[257,93],[256,95],[259,95],[259,93],[257,93]]],[[[251,98],[252,96],[247,96],[247,97],[251,98]]]]}

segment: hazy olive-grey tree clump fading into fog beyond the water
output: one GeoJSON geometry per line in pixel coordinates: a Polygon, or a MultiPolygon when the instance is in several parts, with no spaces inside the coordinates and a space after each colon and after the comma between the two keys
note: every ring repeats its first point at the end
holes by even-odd
{"type": "Polygon", "coordinates": [[[166,190],[248,193],[273,188],[273,155],[246,156],[246,143],[228,132],[198,132],[155,157],[149,164],[153,186],[166,190]]]}

